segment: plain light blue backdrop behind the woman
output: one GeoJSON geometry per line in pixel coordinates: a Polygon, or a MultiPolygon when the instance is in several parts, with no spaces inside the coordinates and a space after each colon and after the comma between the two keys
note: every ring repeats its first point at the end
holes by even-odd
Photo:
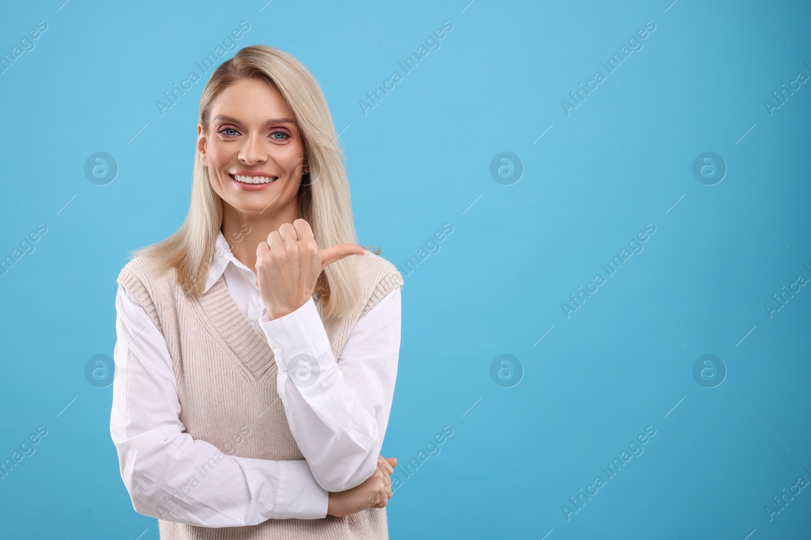
{"type": "Polygon", "coordinates": [[[391,538],[807,538],[811,488],[773,521],[765,507],[811,481],[811,291],[764,307],[811,278],[811,85],[764,106],[811,75],[807,2],[62,1],[0,19],[2,54],[48,24],[0,74],[0,256],[48,227],[0,279],[0,457],[49,430],[0,480],[2,538],[158,538],[118,473],[112,387],[84,365],[113,354],[127,253],[187,211],[204,81],[164,116],[155,101],[242,20],[239,46],[284,49],[319,80],[363,243],[403,265],[453,226],[404,272],[383,453],[453,436],[397,489],[391,538]],[[445,20],[441,48],[364,116],[358,100],[445,20]],[[567,116],[561,100],[646,21],[644,48],[567,116]],[[118,162],[108,185],[84,175],[97,151],[118,162]],[[489,172],[502,151],[525,168],[513,185],[489,172]],[[717,185],[693,176],[705,151],[727,164],[717,185]],[[644,251],[565,317],[646,223],[644,251]],[[513,388],[491,380],[502,354],[524,369],[513,388]],[[716,388],[693,379],[705,354],[727,366],[716,388]],[[644,453],[567,521],[647,426],[644,453]]]}

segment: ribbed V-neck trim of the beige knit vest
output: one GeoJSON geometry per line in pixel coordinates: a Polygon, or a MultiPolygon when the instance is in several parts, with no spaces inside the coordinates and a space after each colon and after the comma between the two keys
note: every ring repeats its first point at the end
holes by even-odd
{"type": "Polygon", "coordinates": [[[200,297],[200,308],[203,319],[212,335],[221,339],[256,380],[262,378],[268,370],[277,369],[273,350],[264,333],[257,331],[239,308],[228,286],[225,285],[225,274],[200,297]]]}

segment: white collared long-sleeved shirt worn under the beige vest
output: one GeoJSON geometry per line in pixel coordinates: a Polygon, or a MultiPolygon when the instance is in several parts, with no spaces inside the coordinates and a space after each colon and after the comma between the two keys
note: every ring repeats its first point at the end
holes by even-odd
{"type": "Polygon", "coordinates": [[[234,257],[220,232],[205,290],[222,274],[235,303],[268,338],[278,367],[277,390],[305,459],[225,453],[212,471],[215,478],[206,478],[191,494],[175,496],[179,504],[167,503],[195,467],[219,455],[219,449],[184,432],[165,338],[119,285],[110,435],[133,507],[151,517],[204,527],[325,517],[328,491],[355,487],[377,467],[397,378],[400,287],[358,321],[336,360],[314,300],[269,321],[255,274],[234,257]],[[300,354],[317,359],[317,384],[296,385],[283,368],[300,354]]]}

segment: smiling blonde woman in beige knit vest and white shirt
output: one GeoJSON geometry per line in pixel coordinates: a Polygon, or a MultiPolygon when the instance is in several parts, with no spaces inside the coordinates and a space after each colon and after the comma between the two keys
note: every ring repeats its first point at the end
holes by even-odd
{"type": "Polygon", "coordinates": [[[110,433],[133,507],[161,538],[388,538],[403,281],[354,243],[324,95],[246,47],[197,130],[186,220],[117,280],[110,433]]]}

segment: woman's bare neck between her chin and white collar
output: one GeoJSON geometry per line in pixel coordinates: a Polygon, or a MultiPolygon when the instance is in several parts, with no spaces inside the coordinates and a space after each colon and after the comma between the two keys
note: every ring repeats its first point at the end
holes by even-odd
{"type": "Polygon", "coordinates": [[[299,218],[297,204],[279,209],[271,215],[243,212],[225,203],[223,206],[222,235],[234,257],[254,274],[257,246],[268,241],[270,233],[278,231],[282,223],[293,223],[299,218]]]}

